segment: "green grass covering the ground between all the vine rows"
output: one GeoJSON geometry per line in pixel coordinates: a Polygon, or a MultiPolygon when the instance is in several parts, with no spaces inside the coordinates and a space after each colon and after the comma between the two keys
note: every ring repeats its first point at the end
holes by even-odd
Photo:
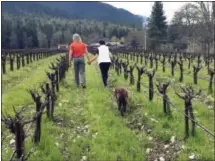
{"type": "MultiPolygon", "coordinates": [[[[48,70],[50,62],[58,56],[40,60],[3,76],[3,113],[12,112],[12,105],[32,106],[32,99],[26,89],[36,88],[47,80],[45,70],[48,70]]],[[[161,69],[159,66],[157,76],[170,76],[169,67],[166,68],[165,74],[161,69]]],[[[136,70],[134,73],[137,78],[136,70]]],[[[204,71],[201,75],[204,76],[204,71]]],[[[175,72],[175,79],[178,80],[178,77],[179,72],[175,72]]],[[[136,92],[136,85],[130,86],[123,75],[118,77],[111,69],[109,85],[123,86],[129,91],[128,112],[122,118],[113,98],[113,88],[103,87],[96,64],[86,65],[86,78],[87,89],[76,88],[73,70],[69,69],[66,79],[60,84],[54,113],[56,121],[50,121],[43,116],[42,136],[37,146],[33,146],[30,137],[26,139],[26,153],[34,147],[30,161],[154,161],[159,157],[186,161],[193,153],[198,160],[214,159],[213,138],[197,127],[197,135],[184,142],[184,115],[172,108],[172,117],[165,116],[160,96],[155,95],[153,102],[149,102],[147,88],[142,86],[142,92],[136,92]],[[175,141],[171,141],[173,136],[175,141]],[[152,149],[151,152],[149,149],[152,149]]],[[[184,80],[192,83],[190,76],[184,76],[184,80]]],[[[148,86],[148,78],[145,75],[142,85],[148,86]]],[[[199,81],[198,87],[206,92],[208,82],[199,81]]],[[[168,95],[183,111],[184,102],[174,94],[173,88],[168,89],[168,95]]],[[[213,111],[199,100],[193,101],[193,107],[196,120],[214,131],[213,111]]],[[[29,116],[33,115],[34,107],[32,108],[27,111],[29,116]]],[[[30,133],[32,132],[33,128],[30,133]]],[[[3,136],[7,136],[2,144],[2,158],[6,161],[12,154],[11,147],[14,147],[14,144],[8,144],[13,136],[4,126],[3,136]]]]}

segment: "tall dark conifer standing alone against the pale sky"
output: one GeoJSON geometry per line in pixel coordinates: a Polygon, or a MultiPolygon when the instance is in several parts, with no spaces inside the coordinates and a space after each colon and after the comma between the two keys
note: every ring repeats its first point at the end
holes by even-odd
{"type": "Polygon", "coordinates": [[[166,17],[164,15],[162,2],[154,3],[148,27],[150,48],[155,50],[156,45],[159,46],[161,44],[159,40],[164,40],[167,36],[166,17]]]}

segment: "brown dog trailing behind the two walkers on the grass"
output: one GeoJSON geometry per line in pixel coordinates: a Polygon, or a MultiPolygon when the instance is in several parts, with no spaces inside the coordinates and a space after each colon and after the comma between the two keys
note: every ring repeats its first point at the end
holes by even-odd
{"type": "Polygon", "coordinates": [[[123,116],[124,112],[126,112],[126,106],[128,104],[128,92],[124,88],[115,88],[114,96],[117,100],[118,109],[123,116]]]}

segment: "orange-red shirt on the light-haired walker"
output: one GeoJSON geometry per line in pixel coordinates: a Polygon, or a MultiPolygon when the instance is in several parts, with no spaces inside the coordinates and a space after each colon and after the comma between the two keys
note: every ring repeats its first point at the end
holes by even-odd
{"type": "Polygon", "coordinates": [[[70,49],[72,50],[72,57],[82,57],[86,51],[87,45],[82,42],[73,42],[70,45],[70,49]]]}

